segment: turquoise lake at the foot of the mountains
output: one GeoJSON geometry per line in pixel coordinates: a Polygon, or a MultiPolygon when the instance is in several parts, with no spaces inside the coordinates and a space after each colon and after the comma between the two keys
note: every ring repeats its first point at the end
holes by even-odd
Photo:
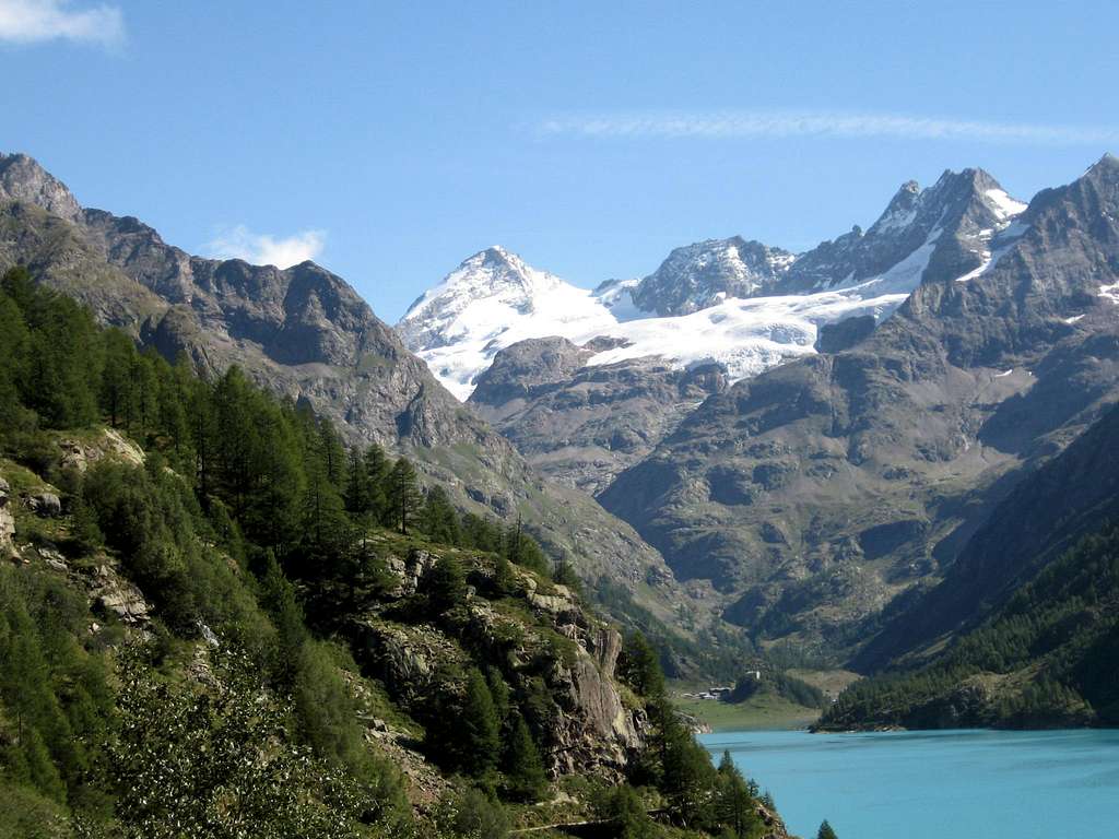
{"type": "Polygon", "coordinates": [[[815,839],[1119,836],[1119,730],[721,732],[789,830],[815,839]]]}

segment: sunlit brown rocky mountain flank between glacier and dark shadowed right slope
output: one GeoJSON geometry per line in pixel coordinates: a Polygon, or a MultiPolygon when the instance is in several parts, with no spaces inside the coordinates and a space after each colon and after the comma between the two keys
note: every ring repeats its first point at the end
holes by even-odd
{"type": "Polygon", "coordinates": [[[733,620],[850,647],[1112,398],[1117,173],[1043,191],[989,255],[953,247],[855,347],[711,397],[600,500],[733,620]]]}

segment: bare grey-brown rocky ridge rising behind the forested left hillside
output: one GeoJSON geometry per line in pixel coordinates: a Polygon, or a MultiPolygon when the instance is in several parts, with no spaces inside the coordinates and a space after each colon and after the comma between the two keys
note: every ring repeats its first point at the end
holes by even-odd
{"type": "Polygon", "coordinates": [[[0,268],[15,264],[169,360],[185,356],[209,377],[236,365],[329,417],[347,443],[408,456],[457,507],[519,519],[584,581],[622,586],[641,616],[615,598],[621,619],[687,641],[668,623],[692,598],[657,552],[585,494],[535,473],[340,277],[310,262],[279,270],[191,256],[133,217],[82,208],[22,154],[0,155],[0,268]]]}

